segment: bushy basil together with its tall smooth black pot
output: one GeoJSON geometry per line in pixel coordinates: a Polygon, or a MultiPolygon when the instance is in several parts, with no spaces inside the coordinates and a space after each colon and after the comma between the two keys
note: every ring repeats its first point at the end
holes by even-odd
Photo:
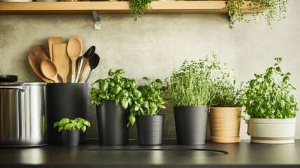
{"type": "Polygon", "coordinates": [[[96,104],[99,143],[126,145],[129,140],[129,106],[133,97],[140,97],[136,80],[125,78],[123,69],[108,71],[108,78],[92,83],[92,104],[96,104]]]}

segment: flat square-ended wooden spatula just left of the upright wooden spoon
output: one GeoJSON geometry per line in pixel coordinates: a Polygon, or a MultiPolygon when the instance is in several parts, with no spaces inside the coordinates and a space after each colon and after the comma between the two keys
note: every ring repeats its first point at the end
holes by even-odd
{"type": "Polygon", "coordinates": [[[70,71],[70,60],[66,53],[66,43],[53,44],[53,62],[57,68],[57,73],[62,78],[62,82],[67,83],[70,71]]]}

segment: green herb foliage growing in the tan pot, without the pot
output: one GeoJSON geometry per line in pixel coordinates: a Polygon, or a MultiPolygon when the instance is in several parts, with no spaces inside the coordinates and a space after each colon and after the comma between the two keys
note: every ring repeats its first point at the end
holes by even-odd
{"type": "MultiPolygon", "coordinates": [[[[232,69],[232,72],[234,70],[232,69]]],[[[241,107],[242,85],[236,87],[236,78],[227,69],[227,64],[220,68],[220,76],[215,78],[215,89],[217,90],[211,106],[215,107],[241,107]]]]}

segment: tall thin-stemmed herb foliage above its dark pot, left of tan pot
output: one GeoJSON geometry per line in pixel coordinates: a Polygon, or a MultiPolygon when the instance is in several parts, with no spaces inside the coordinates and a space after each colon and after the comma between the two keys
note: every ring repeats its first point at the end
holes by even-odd
{"type": "Polygon", "coordinates": [[[215,97],[215,71],[220,62],[213,54],[197,61],[185,60],[178,70],[174,70],[166,79],[166,97],[173,106],[210,106],[215,97]]]}

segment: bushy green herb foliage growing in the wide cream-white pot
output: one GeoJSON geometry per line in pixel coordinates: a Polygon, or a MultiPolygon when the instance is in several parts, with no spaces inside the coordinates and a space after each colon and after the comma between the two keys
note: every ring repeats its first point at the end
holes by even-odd
{"type": "Polygon", "coordinates": [[[289,83],[290,72],[280,68],[283,58],[262,74],[255,73],[243,88],[242,102],[250,118],[295,118],[297,102],[292,94],[296,88],[289,83]]]}

